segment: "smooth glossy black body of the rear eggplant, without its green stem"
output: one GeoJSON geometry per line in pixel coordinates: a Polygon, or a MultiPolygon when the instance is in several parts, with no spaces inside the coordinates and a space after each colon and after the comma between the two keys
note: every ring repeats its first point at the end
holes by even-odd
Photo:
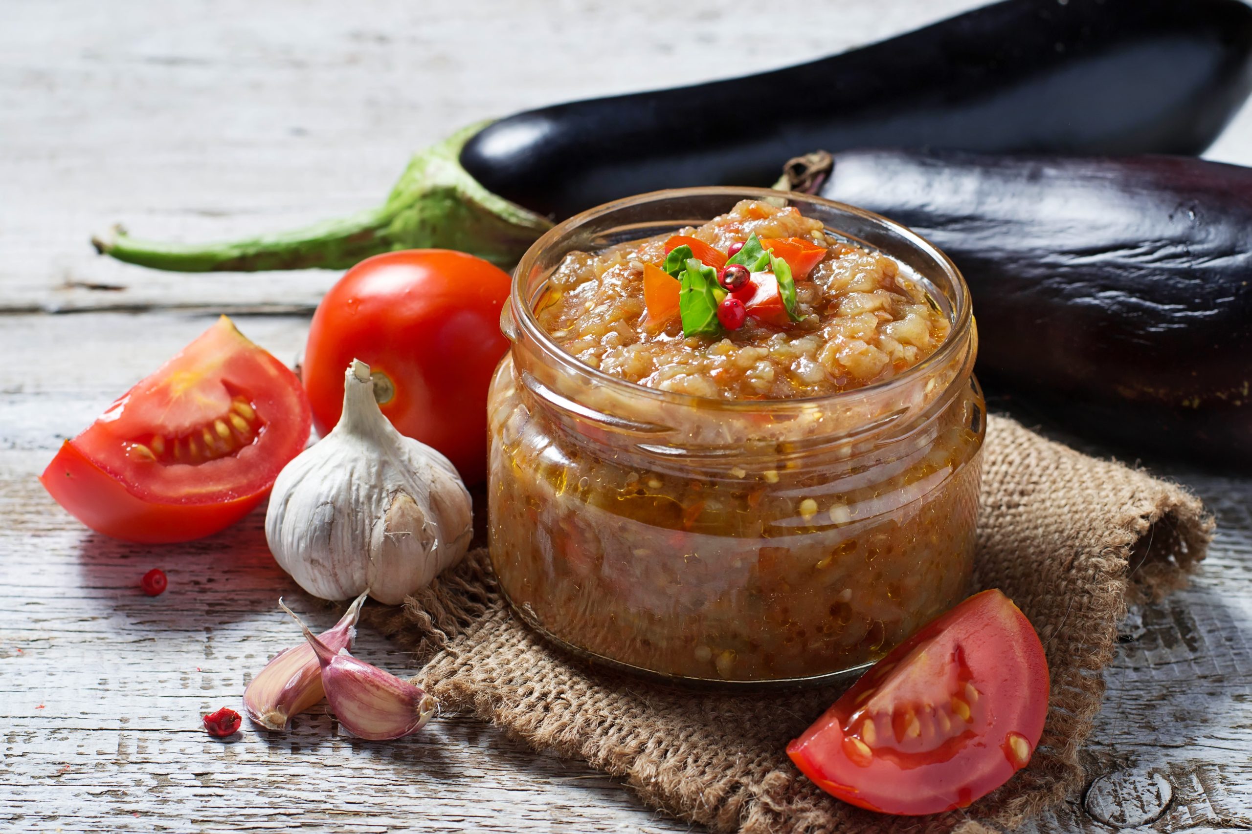
{"type": "Polygon", "coordinates": [[[789,69],[521,113],[461,164],[561,219],[657,189],[770,185],[819,148],[1198,154],[1249,89],[1238,0],[1007,0],[789,69]]]}

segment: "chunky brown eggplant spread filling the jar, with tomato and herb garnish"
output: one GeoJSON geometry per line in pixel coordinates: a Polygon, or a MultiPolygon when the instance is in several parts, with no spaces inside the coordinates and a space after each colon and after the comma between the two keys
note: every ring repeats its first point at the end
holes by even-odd
{"type": "Polygon", "coordinates": [[[613,380],[553,394],[515,343],[492,384],[492,564],[532,625],[662,675],[796,680],[963,599],[974,340],[938,356],[950,313],[895,258],[745,200],[565,254],[532,314],[613,380]]]}

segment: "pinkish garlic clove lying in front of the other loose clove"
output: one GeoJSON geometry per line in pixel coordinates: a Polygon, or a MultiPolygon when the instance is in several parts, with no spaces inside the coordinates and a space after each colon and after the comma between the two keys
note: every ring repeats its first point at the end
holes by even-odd
{"type": "Polygon", "coordinates": [[[322,685],[334,716],[348,731],[371,741],[416,733],[438,710],[438,701],[414,684],[358,660],[347,649],[334,651],[290,610],[322,664],[322,685]]]}

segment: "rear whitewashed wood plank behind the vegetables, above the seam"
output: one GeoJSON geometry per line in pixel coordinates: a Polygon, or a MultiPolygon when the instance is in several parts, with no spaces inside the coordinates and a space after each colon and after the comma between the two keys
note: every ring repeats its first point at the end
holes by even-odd
{"type": "Polygon", "coordinates": [[[975,5],[781,0],[771,16],[804,25],[751,39],[714,0],[8,4],[0,309],[312,305],[336,274],[168,275],[98,258],[88,238],[120,221],[229,239],[356,211],[462,125],[781,66],[975,5]]]}

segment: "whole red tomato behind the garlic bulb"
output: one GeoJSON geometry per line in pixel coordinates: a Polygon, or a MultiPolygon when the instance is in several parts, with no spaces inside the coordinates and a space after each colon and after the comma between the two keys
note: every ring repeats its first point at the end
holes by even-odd
{"type": "Polygon", "coordinates": [[[368,258],[339,279],[313,315],[304,389],[326,434],[343,410],[343,371],[369,365],[378,405],[396,429],[438,449],[467,484],[487,471],[487,385],[508,341],[500,310],[508,275],[446,249],[368,258]]]}

